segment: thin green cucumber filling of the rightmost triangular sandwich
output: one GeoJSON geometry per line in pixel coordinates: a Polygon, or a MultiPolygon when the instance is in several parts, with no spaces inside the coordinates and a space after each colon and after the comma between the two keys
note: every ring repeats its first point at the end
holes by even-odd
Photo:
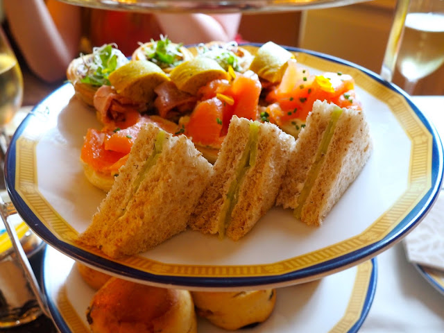
{"type": "Polygon", "coordinates": [[[330,121],[327,124],[327,128],[325,128],[325,131],[323,133],[321,144],[319,144],[318,151],[316,152],[315,160],[313,164],[311,164],[311,168],[307,175],[307,180],[305,180],[304,187],[302,187],[302,191],[300,191],[300,195],[298,197],[298,206],[295,208],[293,212],[293,215],[296,217],[296,219],[300,219],[300,215],[302,213],[302,207],[304,206],[305,201],[307,200],[310,194],[311,188],[314,185],[314,181],[316,180],[319,172],[321,171],[321,167],[325,160],[325,155],[327,155],[328,146],[334,135],[334,130],[336,129],[336,123],[338,122],[339,117],[341,117],[341,114],[342,114],[342,109],[339,107],[335,108],[332,111],[332,117],[330,118],[330,121]]]}

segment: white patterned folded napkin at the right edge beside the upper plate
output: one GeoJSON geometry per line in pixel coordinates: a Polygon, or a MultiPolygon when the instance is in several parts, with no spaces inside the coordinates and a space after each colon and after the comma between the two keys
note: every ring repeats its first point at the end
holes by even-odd
{"type": "Polygon", "coordinates": [[[419,225],[404,238],[410,262],[444,271],[444,191],[419,225]]]}

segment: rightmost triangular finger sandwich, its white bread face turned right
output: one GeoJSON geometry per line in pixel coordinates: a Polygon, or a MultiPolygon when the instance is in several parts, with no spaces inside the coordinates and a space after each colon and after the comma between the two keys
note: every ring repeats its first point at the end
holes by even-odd
{"type": "Polygon", "coordinates": [[[321,225],[361,172],[372,147],[363,111],[316,101],[291,153],[277,205],[293,208],[308,225],[321,225]],[[334,114],[339,118],[332,126],[334,114]],[[330,142],[321,143],[329,126],[330,142]]]}

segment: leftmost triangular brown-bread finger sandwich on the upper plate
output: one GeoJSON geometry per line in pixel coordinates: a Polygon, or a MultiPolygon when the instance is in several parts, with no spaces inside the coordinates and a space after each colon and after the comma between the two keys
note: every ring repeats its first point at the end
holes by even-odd
{"type": "Polygon", "coordinates": [[[212,164],[185,135],[147,123],[78,240],[110,257],[153,248],[187,228],[211,175],[212,164]]]}

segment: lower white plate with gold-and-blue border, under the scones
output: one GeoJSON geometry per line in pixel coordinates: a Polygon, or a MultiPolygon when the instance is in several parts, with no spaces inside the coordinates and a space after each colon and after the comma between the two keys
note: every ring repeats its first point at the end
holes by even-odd
{"type": "MultiPolygon", "coordinates": [[[[89,332],[85,313],[94,289],[80,277],[74,260],[47,246],[42,278],[60,332],[89,332]]],[[[376,280],[376,259],[372,259],[321,280],[277,289],[270,318],[239,332],[357,332],[373,302],[376,280]]],[[[198,318],[198,332],[227,331],[198,318]]]]}

